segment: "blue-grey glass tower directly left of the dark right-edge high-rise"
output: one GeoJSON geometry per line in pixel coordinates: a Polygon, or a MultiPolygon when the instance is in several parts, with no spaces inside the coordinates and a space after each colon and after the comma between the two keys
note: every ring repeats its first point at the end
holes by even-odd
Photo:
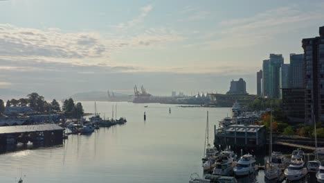
{"type": "Polygon", "coordinates": [[[304,87],[304,54],[290,54],[289,85],[291,88],[304,87]]]}

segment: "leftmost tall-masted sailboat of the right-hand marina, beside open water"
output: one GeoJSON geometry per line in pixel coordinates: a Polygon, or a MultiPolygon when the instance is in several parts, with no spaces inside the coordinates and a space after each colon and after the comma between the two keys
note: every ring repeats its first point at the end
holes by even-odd
{"type": "Polygon", "coordinates": [[[205,144],[204,144],[204,158],[203,168],[204,171],[210,171],[213,169],[213,164],[215,163],[215,156],[218,154],[216,148],[211,148],[209,143],[209,123],[208,123],[208,111],[207,111],[207,123],[206,123],[206,134],[205,134],[205,144]],[[207,143],[206,143],[207,142],[207,143]]]}

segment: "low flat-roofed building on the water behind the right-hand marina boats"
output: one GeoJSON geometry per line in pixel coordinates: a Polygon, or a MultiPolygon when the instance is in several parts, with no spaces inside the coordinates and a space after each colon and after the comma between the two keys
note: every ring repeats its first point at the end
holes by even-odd
{"type": "Polygon", "coordinates": [[[229,125],[215,132],[215,146],[262,148],[267,143],[264,125],[229,125]]]}

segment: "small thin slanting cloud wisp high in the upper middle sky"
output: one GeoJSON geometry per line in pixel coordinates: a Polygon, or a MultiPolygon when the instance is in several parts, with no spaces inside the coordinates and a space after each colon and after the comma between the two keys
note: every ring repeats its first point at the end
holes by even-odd
{"type": "Polygon", "coordinates": [[[152,5],[143,6],[140,10],[140,14],[136,18],[127,21],[126,23],[120,23],[116,26],[116,28],[120,30],[127,30],[129,28],[132,28],[133,26],[136,26],[143,21],[143,19],[149,14],[152,9],[152,5]]]}

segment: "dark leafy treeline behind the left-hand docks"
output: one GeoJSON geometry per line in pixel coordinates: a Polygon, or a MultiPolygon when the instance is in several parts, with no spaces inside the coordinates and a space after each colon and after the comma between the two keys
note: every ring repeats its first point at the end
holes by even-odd
{"type": "Polygon", "coordinates": [[[0,114],[6,110],[6,107],[25,107],[28,106],[35,112],[39,112],[41,114],[56,114],[57,112],[64,112],[68,117],[80,117],[84,114],[84,110],[81,103],[74,103],[72,98],[66,99],[62,105],[62,109],[60,107],[60,103],[58,103],[55,99],[53,101],[48,102],[44,100],[44,96],[40,96],[37,93],[31,93],[27,95],[27,98],[12,98],[5,103],[0,99],[0,114]]]}

